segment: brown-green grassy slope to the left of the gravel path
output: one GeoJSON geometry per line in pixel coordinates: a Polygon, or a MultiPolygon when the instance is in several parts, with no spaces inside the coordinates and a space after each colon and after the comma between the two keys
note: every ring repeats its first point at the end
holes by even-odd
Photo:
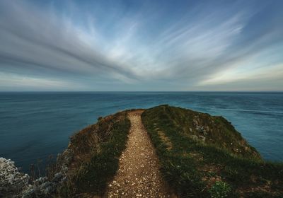
{"type": "Polygon", "coordinates": [[[129,127],[127,112],[118,112],[71,136],[69,149],[74,153],[74,160],[69,166],[69,180],[59,190],[59,197],[102,195],[118,168],[129,127]]]}

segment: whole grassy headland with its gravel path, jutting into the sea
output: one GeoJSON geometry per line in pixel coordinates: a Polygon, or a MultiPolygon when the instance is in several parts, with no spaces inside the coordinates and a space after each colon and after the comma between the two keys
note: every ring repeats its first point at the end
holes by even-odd
{"type": "MultiPolygon", "coordinates": [[[[264,161],[224,117],[169,105],[133,112],[100,117],[71,136],[68,148],[37,180],[0,158],[0,197],[127,197],[120,188],[135,182],[121,178],[134,173],[138,176],[129,180],[146,182],[152,175],[137,173],[151,161],[158,180],[170,184],[163,190],[168,197],[283,196],[283,164],[264,161]],[[146,165],[137,160],[139,153],[146,165]]],[[[143,189],[149,187],[139,187],[137,194],[146,194],[143,189]]]]}

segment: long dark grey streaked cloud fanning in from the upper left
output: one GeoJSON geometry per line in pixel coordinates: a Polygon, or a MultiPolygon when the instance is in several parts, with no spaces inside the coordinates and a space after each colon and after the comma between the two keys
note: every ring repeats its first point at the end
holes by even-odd
{"type": "Polygon", "coordinates": [[[20,1],[3,1],[0,18],[1,69],[43,70],[59,74],[134,74],[110,62],[99,49],[84,40],[90,37],[71,21],[54,13],[42,13],[20,1]]]}

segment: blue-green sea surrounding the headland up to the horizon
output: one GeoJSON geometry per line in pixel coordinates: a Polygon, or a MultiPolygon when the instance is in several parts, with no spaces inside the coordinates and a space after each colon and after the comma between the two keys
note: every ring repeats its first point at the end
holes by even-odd
{"type": "Polygon", "coordinates": [[[222,115],[263,158],[283,161],[283,93],[224,92],[0,93],[0,157],[28,172],[98,117],[161,104],[222,115]]]}

